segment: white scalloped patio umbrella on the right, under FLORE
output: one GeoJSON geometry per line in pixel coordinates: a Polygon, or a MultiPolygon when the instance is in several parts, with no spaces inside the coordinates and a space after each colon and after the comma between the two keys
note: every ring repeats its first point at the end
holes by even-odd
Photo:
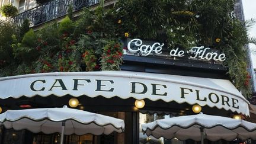
{"type": "Polygon", "coordinates": [[[142,131],[148,136],[179,140],[203,139],[247,140],[256,139],[256,124],[228,117],[211,116],[203,113],[192,116],[172,117],[142,124],[142,131]]]}

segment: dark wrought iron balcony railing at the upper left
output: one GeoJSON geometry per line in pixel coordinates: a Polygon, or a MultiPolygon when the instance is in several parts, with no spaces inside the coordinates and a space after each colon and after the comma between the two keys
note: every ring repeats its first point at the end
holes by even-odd
{"type": "Polygon", "coordinates": [[[25,19],[28,19],[30,26],[33,27],[66,15],[69,5],[72,5],[73,11],[79,11],[98,3],[98,0],[53,0],[16,15],[12,21],[20,26],[25,19]]]}

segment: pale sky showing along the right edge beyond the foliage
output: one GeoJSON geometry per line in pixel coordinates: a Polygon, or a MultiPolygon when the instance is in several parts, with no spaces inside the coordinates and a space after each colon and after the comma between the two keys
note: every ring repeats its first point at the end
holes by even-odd
{"type": "MultiPolygon", "coordinates": [[[[256,18],[256,0],[242,0],[242,4],[244,7],[245,20],[256,18]]],[[[256,37],[256,24],[249,31],[249,35],[252,37],[256,37]]],[[[249,44],[250,49],[256,49],[254,44],[249,44]]],[[[252,57],[252,65],[254,69],[256,68],[256,52],[251,55],[252,57]]]]}

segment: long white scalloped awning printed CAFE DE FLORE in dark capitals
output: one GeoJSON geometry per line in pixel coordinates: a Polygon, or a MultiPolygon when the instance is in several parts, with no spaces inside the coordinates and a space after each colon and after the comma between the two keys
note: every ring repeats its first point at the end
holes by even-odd
{"type": "Polygon", "coordinates": [[[225,79],[145,72],[54,72],[0,78],[0,98],[40,95],[120,97],[208,105],[249,116],[249,102],[225,79]]]}

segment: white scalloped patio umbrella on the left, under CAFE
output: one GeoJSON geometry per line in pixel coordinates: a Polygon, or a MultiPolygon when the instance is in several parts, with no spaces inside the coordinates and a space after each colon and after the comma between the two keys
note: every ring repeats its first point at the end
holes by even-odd
{"type": "Polygon", "coordinates": [[[27,129],[34,133],[62,133],[63,136],[109,135],[124,132],[124,121],[101,114],[89,113],[64,106],[63,108],[34,108],[27,110],[8,110],[0,114],[0,123],[7,129],[27,129]]]}

